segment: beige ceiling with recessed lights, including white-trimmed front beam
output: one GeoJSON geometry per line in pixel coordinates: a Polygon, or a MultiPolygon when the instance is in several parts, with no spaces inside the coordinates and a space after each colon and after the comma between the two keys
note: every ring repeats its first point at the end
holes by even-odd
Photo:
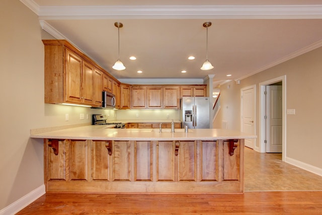
{"type": "Polygon", "coordinates": [[[218,84],[241,80],[322,46],[320,0],[21,2],[39,16],[44,30],[67,39],[121,80],[215,75],[218,84]],[[212,22],[208,59],[214,65],[207,71],[200,69],[206,59],[206,21],[212,22]],[[123,23],[120,60],[126,69],[121,71],[112,68],[118,58],[115,22],[123,23]],[[190,55],[195,59],[189,60],[190,55]]]}

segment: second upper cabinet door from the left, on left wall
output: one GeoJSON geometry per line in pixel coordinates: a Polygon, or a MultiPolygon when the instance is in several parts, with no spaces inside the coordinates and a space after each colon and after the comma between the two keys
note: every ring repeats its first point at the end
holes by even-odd
{"type": "Polygon", "coordinates": [[[94,66],[83,61],[83,103],[93,104],[94,66]]]}

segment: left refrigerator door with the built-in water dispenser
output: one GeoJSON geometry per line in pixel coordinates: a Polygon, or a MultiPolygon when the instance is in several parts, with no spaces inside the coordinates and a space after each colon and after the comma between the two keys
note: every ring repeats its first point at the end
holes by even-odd
{"type": "Polygon", "coordinates": [[[182,127],[186,125],[188,128],[194,128],[194,97],[183,97],[182,98],[182,127]]]}

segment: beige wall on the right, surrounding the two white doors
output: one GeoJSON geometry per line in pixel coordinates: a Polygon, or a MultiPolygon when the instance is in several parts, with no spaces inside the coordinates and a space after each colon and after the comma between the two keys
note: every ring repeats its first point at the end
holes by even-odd
{"type": "MultiPolygon", "coordinates": [[[[251,85],[256,85],[258,118],[259,84],[286,75],[286,109],[296,111],[295,115],[286,115],[286,157],[320,170],[322,168],[320,158],[322,144],[319,142],[322,120],[321,56],[322,47],[241,80],[240,85],[232,81],[221,86],[221,109],[214,127],[220,128],[221,120],[227,120],[228,128],[240,129],[240,89],[251,85]]],[[[259,135],[259,123],[256,130],[256,134],[259,135]]]]}

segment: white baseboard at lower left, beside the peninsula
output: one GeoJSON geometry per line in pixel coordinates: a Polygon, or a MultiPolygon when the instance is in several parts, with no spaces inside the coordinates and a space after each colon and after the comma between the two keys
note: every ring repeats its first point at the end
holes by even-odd
{"type": "Polygon", "coordinates": [[[46,193],[45,185],[43,184],[40,187],[31,191],[30,193],[24,195],[23,197],[21,197],[17,201],[13,202],[12,204],[10,204],[7,207],[0,210],[0,215],[15,214],[45,193],[46,193]]]}

